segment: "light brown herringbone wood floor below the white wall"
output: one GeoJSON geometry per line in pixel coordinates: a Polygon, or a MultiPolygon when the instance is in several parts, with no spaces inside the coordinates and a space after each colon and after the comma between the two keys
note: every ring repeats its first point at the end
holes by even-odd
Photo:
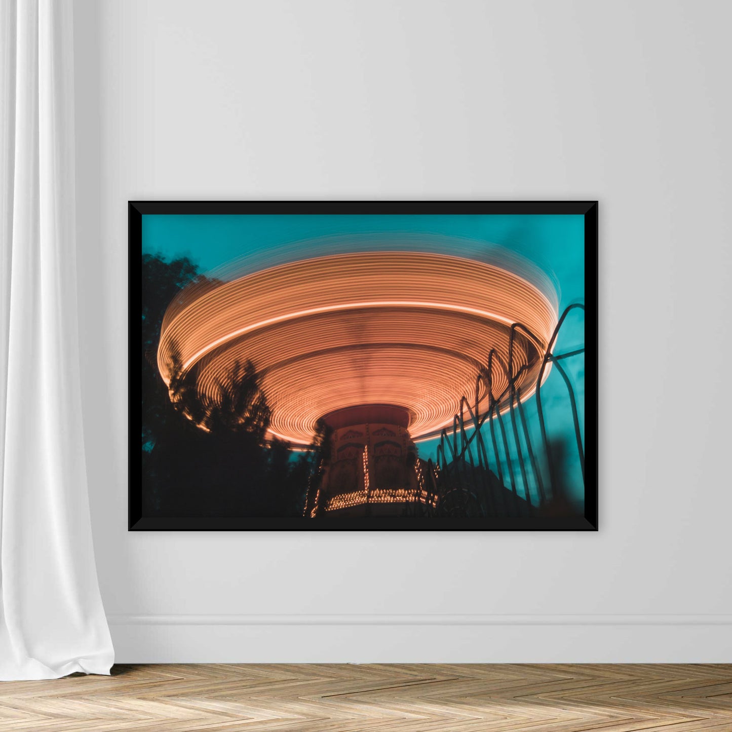
{"type": "Polygon", "coordinates": [[[140,665],[0,684],[0,730],[732,732],[732,665],[140,665]]]}

